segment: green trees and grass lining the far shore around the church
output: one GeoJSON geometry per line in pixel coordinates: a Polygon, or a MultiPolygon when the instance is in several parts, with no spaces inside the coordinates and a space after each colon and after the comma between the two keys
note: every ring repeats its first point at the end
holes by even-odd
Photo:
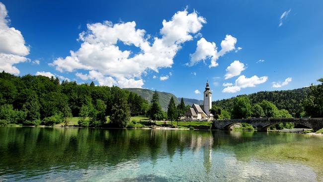
{"type": "MultiPolygon", "coordinates": [[[[312,85],[304,96],[300,116],[323,117],[323,79],[312,85]]],[[[282,95],[291,95],[286,92],[282,95]]],[[[261,94],[260,94],[261,95],[261,94]]],[[[276,106],[270,96],[237,96],[227,102],[214,102],[210,112],[214,119],[289,118],[290,107],[276,106]],[[263,99],[260,100],[259,97],[263,99]],[[257,98],[257,99],[255,99],[257,98]],[[269,100],[266,100],[268,98],[269,100]],[[224,104],[226,103],[226,104],[224,104]]],[[[297,95],[297,94],[296,94],[297,95]]],[[[282,96],[282,98],[285,98],[282,96]]],[[[286,97],[287,98],[287,97],[286,97]]],[[[118,87],[77,84],[58,78],[0,73],[0,125],[75,125],[81,127],[192,127],[210,126],[210,122],[183,122],[189,105],[178,105],[171,97],[167,112],[161,109],[158,92],[151,100],[118,87]],[[144,117],[145,119],[138,119],[144,117]],[[169,122],[164,122],[164,121],[169,122]],[[63,124],[62,124],[63,123],[63,124]],[[71,124],[72,123],[72,124],[71,124]]],[[[291,100],[291,103],[293,101],[291,100]]],[[[284,105],[284,104],[283,104],[284,105]]],[[[297,115],[297,114],[296,114],[297,115]]],[[[242,126],[248,127],[248,126],[242,126]]],[[[251,126],[252,127],[252,126],[251,126]]],[[[293,128],[293,123],[279,123],[271,129],[293,128]]]]}

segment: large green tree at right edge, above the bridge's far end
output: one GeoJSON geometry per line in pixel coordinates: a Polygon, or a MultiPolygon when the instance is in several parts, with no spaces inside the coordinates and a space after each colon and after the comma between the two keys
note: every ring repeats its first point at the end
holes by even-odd
{"type": "Polygon", "coordinates": [[[310,87],[310,93],[303,99],[302,106],[308,116],[323,117],[323,78],[320,85],[310,87]]]}

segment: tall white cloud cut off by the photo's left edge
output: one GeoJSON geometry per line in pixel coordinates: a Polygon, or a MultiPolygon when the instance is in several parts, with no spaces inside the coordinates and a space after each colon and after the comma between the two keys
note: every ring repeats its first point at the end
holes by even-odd
{"type": "Polygon", "coordinates": [[[8,26],[7,15],[5,5],[0,2],[0,71],[18,75],[19,70],[13,65],[30,61],[25,57],[29,54],[29,46],[25,45],[19,30],[8,26]]]}

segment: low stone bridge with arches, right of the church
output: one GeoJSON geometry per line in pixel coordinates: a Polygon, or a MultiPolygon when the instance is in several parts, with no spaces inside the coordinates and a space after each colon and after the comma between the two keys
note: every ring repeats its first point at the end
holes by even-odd
{"type": "Polygon", "coordinates": [[[213,127],[221,130],[229,130],[237,123],[248,123],[256,127],[258,131],[267,131],[268,128],[280,122],[293,122],[312,128],[317,131],[323,128],[323,118],[249,118],[249,119],[224,119],[213,120],[213,127]]]}

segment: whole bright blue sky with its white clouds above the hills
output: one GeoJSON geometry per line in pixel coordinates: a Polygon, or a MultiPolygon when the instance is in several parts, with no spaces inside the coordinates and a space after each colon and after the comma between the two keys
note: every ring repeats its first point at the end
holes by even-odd
{"type": "Polygon", "coordinates": [[[214,100],[323,77],[322,0],[1,3],[0,70],[19,76],[197,99],[209,80],[214,100]]]}

